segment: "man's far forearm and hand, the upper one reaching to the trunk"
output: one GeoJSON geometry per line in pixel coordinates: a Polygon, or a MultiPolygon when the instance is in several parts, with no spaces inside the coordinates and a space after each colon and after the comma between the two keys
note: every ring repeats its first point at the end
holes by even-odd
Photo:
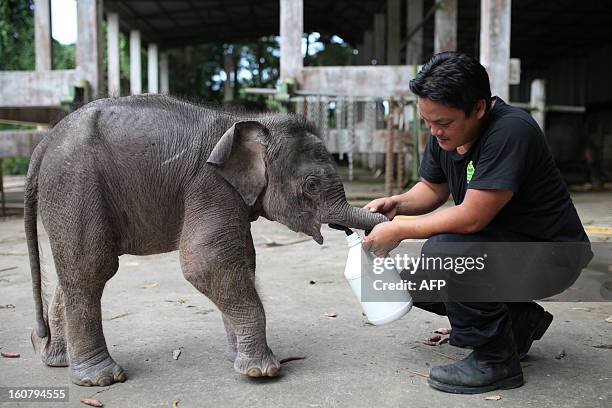
{"type": "Polygon", "coordinates": [[[389,219],[396,215],[421,215],[440,207],[448,200],[448,184],[419,181],[403,194],[377,198],[366,204],[372,212],[380,212],[389,219]]]}

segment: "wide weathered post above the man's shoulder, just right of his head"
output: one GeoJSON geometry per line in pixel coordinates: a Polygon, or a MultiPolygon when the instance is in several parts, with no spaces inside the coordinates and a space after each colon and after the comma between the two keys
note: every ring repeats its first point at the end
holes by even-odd
{"type": "Polygon", "coordinates": [[[511,0],[480,1],[480,63],[489,73],[493,95],[508,101],[511,0]]]}

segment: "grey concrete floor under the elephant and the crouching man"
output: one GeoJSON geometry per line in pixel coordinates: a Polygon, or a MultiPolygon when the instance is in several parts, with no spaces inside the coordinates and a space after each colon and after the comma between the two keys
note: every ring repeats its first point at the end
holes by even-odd
{"type": "MultiPolygon", "coordinates": [[[[612,194],[578,195],[585,224],[612,227],[612,194]]],[[[257,281],[267,311],[268,339],[279,358],[305,360],[283,365],[275,379],[249,379],[225,358],[225,332],[218,310],[186,282],[177,253],[122,256],[103,297],[109,350],[128,380],[110,387],[70,384],[66,368],[44,366],[30,345],[34,311],[30,272],[19,217],[0,221],[0,386],[66,386],[70,402],[82,397],[105,407],[610,407],[612,303],[546,302],[555,315],[547,335],[523,362],[526,384],[482,395],[451,395],[429,388],[431,366],[467,354],[448,344],[418,340],[448,326],[446,318],[413,309],[388,326],[366,325],[343,277],[346,245],[342,233],[324,228],[317,245],[266,220],[253,224],[257,281]],[[266,243],[289,243],[266,246],[266,243]],[[314,284],[310,282],[314,281],[314,284]],[[329,318],[325,313],[337,313],[329,318]],[[181,349],[178,360],[173,350],[181,349]],[[565,353],[565,357],[559,357],[565,353]],[[485,400],[501,396],[498,401],[485,400]]],[[[607,240],[610,235],[593,235],[607,240]]],[[[46,264],[50,250],[41,235],[46,264]]],[[[49,266],[48,269],[52,269],[49,266]]],[[[51,270],[51,276],[54,272],[51,270]]],[[[37,403],[0,403],[37,407],[37,403]]],[[[44,405],[43,405],[44,406],[44,405]]]]}

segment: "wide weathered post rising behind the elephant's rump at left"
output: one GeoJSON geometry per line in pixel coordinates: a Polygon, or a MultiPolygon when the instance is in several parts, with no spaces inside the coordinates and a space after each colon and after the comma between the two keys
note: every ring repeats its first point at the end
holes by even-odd
{"type": "Polygon", "coordinates": [[[87,81],[91,97],[95,99],[104,94],[102,0],[79,0],[76,3],[76,69],[87,81]]]}

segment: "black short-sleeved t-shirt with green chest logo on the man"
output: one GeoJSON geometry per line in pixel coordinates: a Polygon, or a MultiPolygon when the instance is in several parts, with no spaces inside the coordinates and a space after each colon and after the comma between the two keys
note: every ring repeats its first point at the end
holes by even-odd
{"type": "Polygon", "coordinates": [[[429,137],[421,177],[448,183],[455,205],[468,188],[512,190],[487,228],[537,241],[588,241],[538,124],[527,112],[494,99],[483,133],[466,154],[447,152],[429,137]]]}

